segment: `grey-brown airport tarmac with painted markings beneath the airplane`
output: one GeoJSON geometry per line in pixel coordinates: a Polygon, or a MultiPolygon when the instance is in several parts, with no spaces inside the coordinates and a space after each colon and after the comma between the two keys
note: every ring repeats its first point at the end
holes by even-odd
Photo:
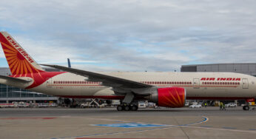
{"type": "Polygon", "coordinates": [[[256,110],[4,108],[0,138],[255,138],[256,110]]]}

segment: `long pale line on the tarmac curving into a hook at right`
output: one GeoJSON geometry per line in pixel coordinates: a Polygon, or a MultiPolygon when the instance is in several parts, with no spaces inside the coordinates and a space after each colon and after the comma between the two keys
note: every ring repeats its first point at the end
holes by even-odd
{"type": "Polygon", "coordinates": [[[118,135],[118,134],[128,134],[128,133],[134,133],[134,132],[148,132],[148,131],[154,131],[154,130],[161,130],[161,129],[172,129],[175,127],[181,127],[181,126],[190,126],[190,125],[195,125],[199,123],[205,123],[209,121],[209,118],[206,118],[203,116],[203,121],[198,121],[195,123],[188,123],[188,124],[182,124],[182,125],[169,125],[165,127],[158,127],[154,129],[141,129],[141,130],[135,130],[135,131],[127,131],[127,132],[110,132],[110,133],[100,133],[100,134],[95,134],[95,135],[82,135],[82,136],[74,136],[74,137],[63,137],[63,138],[52,138],[52,139],[73,139],[73,138],[87,138],[87,137],[95,137],[95,136],[101,136],[101,135],[118,135]]]}

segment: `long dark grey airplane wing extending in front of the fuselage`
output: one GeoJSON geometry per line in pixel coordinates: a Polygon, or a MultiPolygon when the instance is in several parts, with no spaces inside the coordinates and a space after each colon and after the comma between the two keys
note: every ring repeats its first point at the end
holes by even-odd
{"type": "Polygon", "coordinates": [[[130,88],[130,89],[140,89],[153,87],[149,84],[143,84],[137,81],[131,81],[124,78],[118,78],[111,75],[104,75],[96,72],[89,72],[81,69],[73,69],[70,67],[62,67],[58,65],[49,65],[49,64],[41,64],[47,67],[54,67],[55,69],[61,69],[66,72],[71,72],[77,75],[82,75],[89,78],[89,81],[101,81],[102,85],[107,87],[122,87],[122,88],[130,88]]]}

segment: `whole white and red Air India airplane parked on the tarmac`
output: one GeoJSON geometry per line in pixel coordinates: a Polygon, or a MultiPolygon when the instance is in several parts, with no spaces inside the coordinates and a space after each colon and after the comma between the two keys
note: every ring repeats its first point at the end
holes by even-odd
{"type": "Polygon", "coordinates": [[[0,42],[12,75],[0,75],[0,84],[63,98],[121,100],[117,110],[137,110],[138,101],[183,107],[186,100],[246,100],[256,98],[256,78],[233,72],[90,72],[58,65],[37,64],[8,33],[0,42]],[[41,66],[60,69],[46,72],[41,66]]]}

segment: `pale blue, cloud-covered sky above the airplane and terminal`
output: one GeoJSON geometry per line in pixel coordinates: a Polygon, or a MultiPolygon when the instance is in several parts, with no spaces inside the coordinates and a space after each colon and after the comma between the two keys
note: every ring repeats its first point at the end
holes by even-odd
{"type": "MultiPolygon", "coordinates": [[[[0,30],[38,64],[90,71],[179,71],[255,63],[253,0],[1,0],[0,30]]],[[[8,67],[0,49],[0,67],[8,67]]]]}

